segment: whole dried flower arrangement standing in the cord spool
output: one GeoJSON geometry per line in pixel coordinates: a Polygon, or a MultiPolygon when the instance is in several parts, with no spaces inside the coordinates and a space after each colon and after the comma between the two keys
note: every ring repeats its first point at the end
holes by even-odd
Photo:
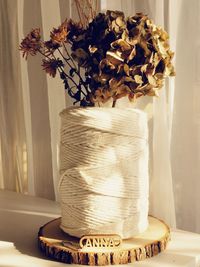
{"type": "Polygon", "coordinates": [[[146,15],[125,18],[120,11],[99,13],[86,25],[65,20],[43,41],[33,29],[21,42],[23,56],[42,54],[43,69],[57,72],[80,106],[109,99],[157,95],[164,78],[175,74],[168,34],[146,15]],[[71,51],[69,51],[69,46],[71,51]]]}

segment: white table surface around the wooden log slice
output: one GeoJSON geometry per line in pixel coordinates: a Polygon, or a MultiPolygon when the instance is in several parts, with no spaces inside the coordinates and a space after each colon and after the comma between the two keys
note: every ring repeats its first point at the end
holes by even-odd
{"type": "MultiPolygon", "coordinates": [[[[48,260],[37,247],[40,226],[59,216],[60,208],[56,202],[0,191],[0,267],[66,266],[48,260]]],[[[174,230],[166,251],[151,259],[127,265],[200,267],[200,235],[174,230]]]]}

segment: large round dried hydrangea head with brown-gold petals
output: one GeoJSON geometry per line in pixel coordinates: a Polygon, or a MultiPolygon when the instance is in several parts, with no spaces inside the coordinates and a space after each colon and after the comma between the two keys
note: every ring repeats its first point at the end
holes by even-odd
{"type": "Polygon", "coordinates": [[[74,59],[93,80],[92,101],[156,96],[164,78],[175,74],[168,38],[142,13],[127,19],[122,12],[100,13],[72,45],[74,59]]]}

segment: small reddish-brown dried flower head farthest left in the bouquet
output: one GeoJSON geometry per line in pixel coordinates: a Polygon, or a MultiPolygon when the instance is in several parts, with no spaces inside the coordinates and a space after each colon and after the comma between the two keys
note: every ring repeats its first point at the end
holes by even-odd
{"type": "Polygon", "coordinates": [[[27,36],[22,40],[20,44],[20,50],[22,51],[23,57],[27,59],[28,55],[36,55],[42,46],[40,29],[33,29],[27,36]]]}

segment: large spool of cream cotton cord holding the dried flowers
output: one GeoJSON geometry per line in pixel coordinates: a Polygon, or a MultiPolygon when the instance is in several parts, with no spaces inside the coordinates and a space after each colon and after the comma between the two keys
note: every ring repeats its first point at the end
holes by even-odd
{"type": "Polygon", "coordinates": [[[61,112],[61,229],[70,235],[119,234],[148,226],[146,114],[126,108],[61,112]]]}

